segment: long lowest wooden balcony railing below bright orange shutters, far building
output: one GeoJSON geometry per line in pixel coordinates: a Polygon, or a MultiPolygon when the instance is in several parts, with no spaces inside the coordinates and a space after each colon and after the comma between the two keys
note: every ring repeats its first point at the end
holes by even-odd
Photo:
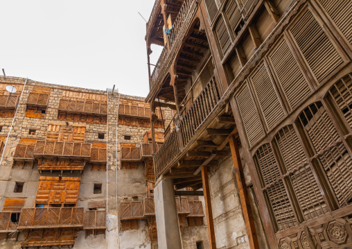
{"type": "Polygon", "coordinates": [[[83,227],[84,207],[36,207],[22,209],[19,230],[53,227],[83,227]]]}

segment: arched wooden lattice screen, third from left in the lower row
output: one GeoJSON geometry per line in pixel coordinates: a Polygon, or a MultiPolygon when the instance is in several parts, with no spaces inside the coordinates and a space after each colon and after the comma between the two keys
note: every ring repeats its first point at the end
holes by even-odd
{"type": "Polygon", "coordinates": [[[340,206],[352,202],[352,160],[322,103],[309,105],[299,123],[314,148],[311,160],[324,169],[340,206]]]}

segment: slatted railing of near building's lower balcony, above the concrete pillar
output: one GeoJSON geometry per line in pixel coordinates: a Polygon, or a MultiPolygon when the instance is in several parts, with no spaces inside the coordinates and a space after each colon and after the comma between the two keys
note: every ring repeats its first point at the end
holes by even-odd
{"type": "Polygon", "coordinates": [[[202,123],[213,112],[219,101],[218,88],[216,87],[215,78],[212,77],[191,107],[186,110],[185,114],[182,114],[183,117],[179,121],[180,130],[173,130],[155,154],[155,173],[157,175],[160,175],[164,169],[168,168],[170,162],[182,152],[182,148],[186,147],[196,135],[202,123]]]}

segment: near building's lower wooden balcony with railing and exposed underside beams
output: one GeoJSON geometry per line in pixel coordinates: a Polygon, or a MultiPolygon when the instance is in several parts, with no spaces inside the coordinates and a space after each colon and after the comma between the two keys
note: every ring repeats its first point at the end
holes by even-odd
{"type": "MultiPolygon", "coordinates": [[[[179,130],[173,130],[155,154],[157,177],[176,165],[193,169],[199,167],[204,158],[212,155],[212,151],[228,148],[219,147],[222,144],[219,135],[226,136],[234,130],[234,118],[220,117],[225,114],[225,108],[219,102],[215,78],[211,77],[189,108],[182,110],[179,130]]],[[[214,154],[211,159],[217,160],[220,154],[223,156],[225,153],[214,154]]]]}

